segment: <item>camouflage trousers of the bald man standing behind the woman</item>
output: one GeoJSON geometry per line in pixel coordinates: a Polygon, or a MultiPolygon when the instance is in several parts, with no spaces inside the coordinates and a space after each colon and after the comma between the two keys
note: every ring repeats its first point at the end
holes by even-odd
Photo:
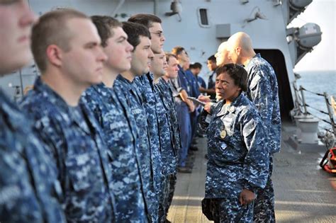
{"type": "Polygon", "coordinates": [[[257,199],[254,200],[254,222],[275,222],[272,171],[273,159],[269,156],[269,178],[266,187],[263,190],[257,190],[257,199]]]}

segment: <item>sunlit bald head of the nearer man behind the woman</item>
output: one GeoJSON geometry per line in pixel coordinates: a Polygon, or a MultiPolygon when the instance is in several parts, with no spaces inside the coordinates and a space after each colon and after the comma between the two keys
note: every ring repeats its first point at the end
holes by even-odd
{"type": "Polygon", "coordinates": [[[235,64],[244,64],[247,59],[250,60],[255,55],[250,36],[243,32],[231,35],[227,48],[228,57],[235,64]]]}

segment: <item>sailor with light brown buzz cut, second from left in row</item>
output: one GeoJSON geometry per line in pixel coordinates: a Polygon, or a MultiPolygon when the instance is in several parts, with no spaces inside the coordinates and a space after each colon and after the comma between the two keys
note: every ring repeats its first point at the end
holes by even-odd
{"type": "Polygon", "coordinates": [[[57,165],[67,222],[115,222],[101,129],[79,103],[86,88],[102,80],[106,55],[96,27],[79,11],[45,13],[33,26],[32,50],[42,75],[21,105],[57,165]]]}

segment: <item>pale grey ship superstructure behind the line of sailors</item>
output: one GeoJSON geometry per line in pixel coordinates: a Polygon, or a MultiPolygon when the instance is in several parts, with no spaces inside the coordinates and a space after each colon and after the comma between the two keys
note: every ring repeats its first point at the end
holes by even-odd
{"type": "MultiPolygon", "coordinates": [[[[281,115],[293,109],[293,67],[321,39],[318,25],[287,28],[312,0],[30,0],[30,8],[41,15],[53,8],[76,8],[89,15],[108,15],[126,21],[135,13],[154,13],[162,18],[164,50],[181,45],[191,62],[206,64],[220,42],[238,31],[248,33],[256,52],[267,59],[277,75],[281,115]]],[[[60,30],[61,31],[61,30],[60,30]]],[[[206,66],[204,66],[206,67],[206,66]]],[[[30,66],[1,77],[0,86],[18,100],[23,89],[39,74],[30,66]]]]}

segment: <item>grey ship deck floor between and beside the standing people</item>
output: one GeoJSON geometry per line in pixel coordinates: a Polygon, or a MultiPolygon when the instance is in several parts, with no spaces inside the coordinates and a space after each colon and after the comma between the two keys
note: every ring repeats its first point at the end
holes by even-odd
{"type": "MultiPolygon", "coordinates": [[[[274,155],[272,180],[276,222],[336,222],[336,176],[320,169],[324,147],[293,149],[287,143],[295,132],[283,123],[281,152],[274,155]]],[[[206,139],[198,139],[192,173],[178,173],[168,217],[171,222],[210,222],[202,214],[206,176],[206,139]]]]}

